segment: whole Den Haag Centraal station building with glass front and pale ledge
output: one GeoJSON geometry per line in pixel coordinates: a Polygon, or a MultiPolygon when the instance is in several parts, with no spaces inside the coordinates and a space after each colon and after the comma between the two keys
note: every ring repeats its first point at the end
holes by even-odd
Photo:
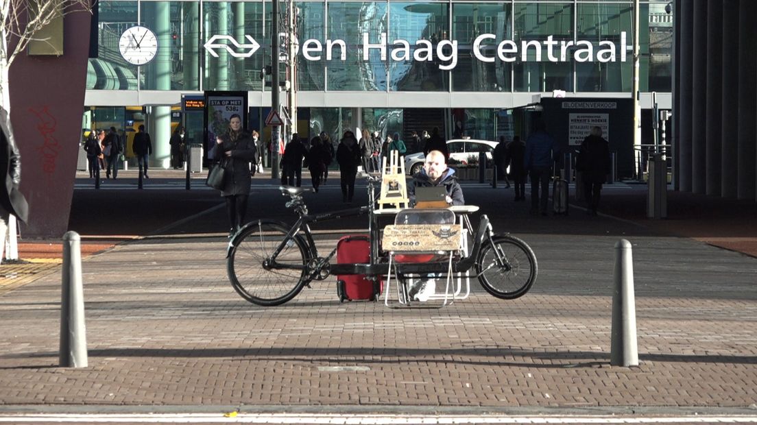
{"type": "MultiPolygon", "coordinates": [[[[645,129],[652,92],[660,109],[671,108],[668,4],[640,3],[645,129]]],[[[190,143],[203,143],[203,118],[182,110],[182,96],[241,91],[248,128],[269,139],[270,2],[101,0],[96,7],[98,53],[87,69],[84,128],[116,126],[129,136],[146,123],[153,161],[167,166],[175,126],[186,127],[190,143]],[[154,31],[159,45],[142,66],[129,64],[119,51],[124,31],[138,24],[154,31]],[[260,48],[245,57],[250,38],[260,48]]],[[[556,93],[600,104],[631,99],[631,1],[319,0],[281,2],[279,8],[282,45],[286,34],[298,45],[295,54],[279,52],[280,80],[286,82],[280,96],[285,109],[290,101],[296,107],[301,135],[326,131],[338,140],[345,129],[357,128],[397,132],[407,140],[413,130],[436,127],[447,138],[509,139],[527,136],[535,104],[556,93]]],[[[632,132],[615,130],[615,140],[628,144],[631,137],[633,144],[632,132]]],[[[569,143],[566,134],[556,137],[569,143]]],[[[651,137],[645,132],[644,142],[651,137]]],[[[632,166],[625,169],[632,172],[632,166]]]]}

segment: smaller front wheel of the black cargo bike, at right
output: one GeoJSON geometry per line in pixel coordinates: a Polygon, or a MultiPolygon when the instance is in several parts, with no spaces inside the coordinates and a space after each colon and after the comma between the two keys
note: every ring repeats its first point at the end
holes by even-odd
{"type": "Polygon", "coordinates": [[[509,234],[484,242],[475,269],[484,290],[501,299],[516,299],[527,293],[539,270],[531,247],[509,234]]]}

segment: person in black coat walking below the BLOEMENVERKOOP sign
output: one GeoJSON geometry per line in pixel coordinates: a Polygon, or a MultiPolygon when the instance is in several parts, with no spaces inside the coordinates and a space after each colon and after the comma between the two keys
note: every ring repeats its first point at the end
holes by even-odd
{"type": "Polygon", "coordinates": [[[607,181],[610,166],[609,143],[602,137],[602,128],[593,127],[591,134],[581,142],[578,158],[575,161],[575,168],[584,178],[587,213],[592,216],[597,215],[600,191],[602,191],[602,184],[607,181]]]}

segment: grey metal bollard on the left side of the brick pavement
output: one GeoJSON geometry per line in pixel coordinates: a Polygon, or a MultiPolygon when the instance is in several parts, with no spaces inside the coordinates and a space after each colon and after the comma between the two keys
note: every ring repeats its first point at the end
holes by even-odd
{"type": "Polygon", "coordinates": [[[61,345],[58,365],[63,368],[87,367],[81,239],[75,231],[63,235],[61,345]]]}

